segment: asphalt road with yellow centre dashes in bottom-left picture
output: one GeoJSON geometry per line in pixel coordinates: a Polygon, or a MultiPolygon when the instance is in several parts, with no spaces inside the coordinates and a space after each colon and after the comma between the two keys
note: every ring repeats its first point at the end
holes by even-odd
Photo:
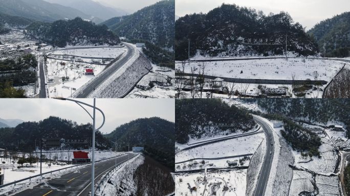
{"type": "MultiPolygon", "coordinates": [[[[127,153],[132,158],[137,154],[127,153]]],[[[117,164],[128,159],[128,155],[117,157],[117,164]]],[[[115,166],[116,159],[98,162],[95,164],[95,183],[115,166]]],[[[88,195],[91,190],[91,165],[72,171],[71,173],[62,175],[59,178],[48,180],[45,183],[38,184],[31,189],[18,192],[17,196],[27,195],[88,195]]]]}

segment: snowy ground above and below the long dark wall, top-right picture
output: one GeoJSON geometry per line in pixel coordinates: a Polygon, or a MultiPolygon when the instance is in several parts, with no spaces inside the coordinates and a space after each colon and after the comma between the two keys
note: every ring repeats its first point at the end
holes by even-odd
{"type": "MultiPolygon", "coordinates": [[[[185,73],[190,73],[193,68],[194,73],[198,74],[200,65],[205,64],[205,75],[238,78],[238,79],[267,79],[267,80],[312,80],[314,81],[314,73],[317,71],[317,80],[330,82],[335,75],[344,66],[344,63],[336,60],[322,59],[252,59],[252,60],[232,60],[232,61],[210,61],[210,62],[187,62],[185,65],[185,73]]],[[[176,63],[176,68],[181,69],[181,62],[176,63]]],[[[189,77],[187,77],[189,79],[189,77]]],[[[204,90],[210,90],[211,80],[208,80],[204,86],[204,90]]],[[[239,95],[257,96],[263,94],[269,97],[289,96],[293,98],[321,98],[323,89],[326,85],[307,86],[300,92],[293,92],[292,85],[286,84],[244,84],[223,82],[222,87],[228,87],[239,95]],[[263,88],[258,88],[258,86],[263,88]],[[265,89],[264,91],[262,89],[265,89]],[[269,93],[264,93],[269,92],[269,93]],[[281,94],[275,94],[278,92],[281,94]]],[[[185,86],[185,88],[190,88],[185,86]]],[[[224,88],[214,88],[222,91],[224,88]]],[[[226,94],[215,94],[215,97],[228,98],[226,94]]],[[[182,92],[181,98],[191,97],[190,92],[182,92]]],[[[199,95],[196,95],[199,97],[199,95]]]]}

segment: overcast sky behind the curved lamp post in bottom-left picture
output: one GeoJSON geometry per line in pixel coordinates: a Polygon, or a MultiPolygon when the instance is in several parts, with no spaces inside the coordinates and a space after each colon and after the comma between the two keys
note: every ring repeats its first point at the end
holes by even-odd
{"type": "MultiPolygon", "coordinates": [[[[79,100],[93,105],[92,99],[79,100]]],[[[0,99],[0,118],[39,121],[58,116],[78,122],[92,123],[91,117],[80,106],[70,101],[54,99],[0,99]]],[[[110,133],[119,125],[144,117],[161,117],[175,121],[173,99],[97,99],[96,107],[106,116],[102,133],[110,133]]],[[[91,110],[92,111],[92,110],[91,110]]],[[[92,112],[91,112],[92,114],[92,112]]],[[[96,111],[96,127],[102,123],[102,115],[96,111]]]]}

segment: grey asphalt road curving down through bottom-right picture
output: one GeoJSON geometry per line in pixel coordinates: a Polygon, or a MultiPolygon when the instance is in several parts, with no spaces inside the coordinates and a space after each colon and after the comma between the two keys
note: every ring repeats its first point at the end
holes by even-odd
{"type": "Polygon", "coordinates": [[[272,166],[272,159],[274,155],[274,145],[275,142],[273,140],[273,130],[271,127],[263,120],[254,116],[254,120],[261,126],[261,128],[265,131],[266,135],[266,155],[264,163],[262,163],[261,174],[258,177],[258,182],[255,188],[255,196],[261,196],[265,194],[265,189],[267,187],[267,183],[269,180],[270,170],[272,166]],[[272,145],[271,145],[272,143],[272,145]],[[270,155],[271,152],[271,155],[270,155]]]}

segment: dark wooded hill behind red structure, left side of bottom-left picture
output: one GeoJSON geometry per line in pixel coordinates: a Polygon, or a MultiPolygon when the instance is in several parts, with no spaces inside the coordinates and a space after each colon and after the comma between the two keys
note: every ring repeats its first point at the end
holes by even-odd
{"type": "MultiPolygon", "coordinates": [[[[40,138],[61,138],[61,139],[80,139],[91,140],[92,125],[78,125],[72,120],[62,119],[50,116],[38,122],[23,122],[15,128],[0,129],[0,148],[13,149],[18,147],[19,151],[29,152],[35,149],[40,138]]],[[[100,133],[96,132],[96,149],[110,149],[110,142],[100,133]]],[[[64,145],[64,148],[81,148],[80,146],[64,145]]],[[[86,146],[85,146],[86,147],[86,146]]],[[[87,146],[89,148],[89,144],[87,146]]]]}

